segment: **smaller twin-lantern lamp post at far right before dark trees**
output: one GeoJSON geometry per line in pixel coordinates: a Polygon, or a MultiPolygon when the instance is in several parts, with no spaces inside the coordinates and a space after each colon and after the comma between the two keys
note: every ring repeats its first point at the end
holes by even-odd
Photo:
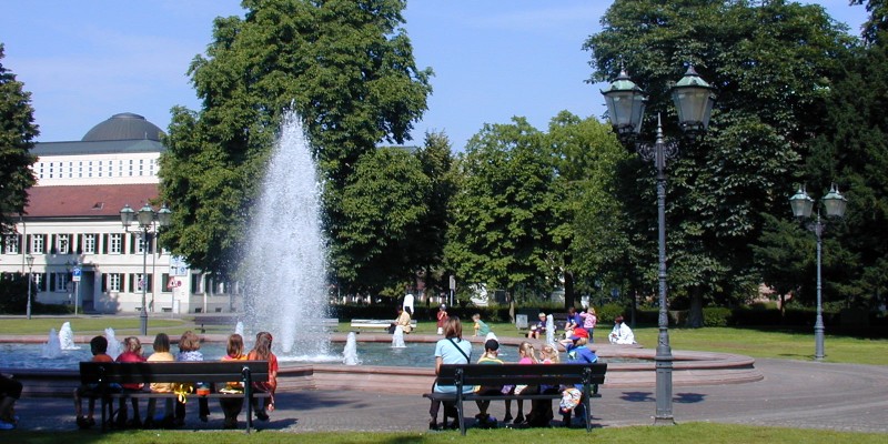
{"type": "MultiPolygon", "coordinates": [[[[848,200],[845,199],[834,184],[829,192],[820,200],[828,218],[841,218],[845,215],[845,206],[848,200]]],[[[804,188],[799,188],[795,195],[789,198],[789,205],[793,208],[793,215],[799,220],[807,220],[814,210],[814,199],[811,199],[804,188]]],[[[820,209],[817,209],[817,216],[814,221],[805,225],[817,236],[817,320],[814,323],[814,360],[824,360],[824,312],[823,312],[823,281],[820,279],[820,252],[823,251],[821,236],[826,222],[820,221],[820,209]]]]}

